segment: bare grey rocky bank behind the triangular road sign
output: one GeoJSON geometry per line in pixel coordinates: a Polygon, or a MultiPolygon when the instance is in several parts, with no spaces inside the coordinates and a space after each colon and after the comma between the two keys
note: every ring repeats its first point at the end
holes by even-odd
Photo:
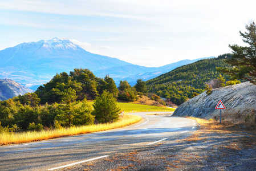
{"type": "Polygon", "coordinates": [[[218,119],[220,109],[215,109],[218,101],[224,103],[226,109],[222,109],[224,118],[243,120],[245,116],[255,117],[256,113],[256,85],[250,82],[233,86],[213,89],[210,95],[201,93],[178,106],[173,116],[193,116],[203,119],[218,119]],[[233,117],[229,117],[229,116],[233,117]]]}

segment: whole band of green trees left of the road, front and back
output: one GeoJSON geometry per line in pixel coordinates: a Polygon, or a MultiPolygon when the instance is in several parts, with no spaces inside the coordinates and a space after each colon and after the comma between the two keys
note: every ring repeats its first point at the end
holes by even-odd
{"type": "Polygon", "coordinates": [[[138,94],[146,92],[142,80],[137,80],[135,87],[125,80],[120,81],[117,88],[108,75],[104,79],[97,78],[87,69],[74,69],[69,75],[62,72],[38,87],[35,93],[0,101],[0,132],[4,128],[40,131],[114,122],[120,113],[117,97],[135,101],[138,94]],[[94,104],[87,99],[94,100],[94,104]]]}

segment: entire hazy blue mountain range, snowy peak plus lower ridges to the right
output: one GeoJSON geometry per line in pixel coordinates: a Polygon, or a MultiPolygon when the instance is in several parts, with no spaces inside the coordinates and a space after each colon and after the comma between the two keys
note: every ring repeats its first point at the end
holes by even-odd
{"type": "Polygon", "coordinates": [[[181,60],[162,67],[143,67],[117,58],[92,54],[68,39],[53,38],[21,43],[0,51],[0,78],[13,79],[36,90],[57,72],[69,74],[74,68],[88,68],[97,77],[109,75],[116,84],[120,80],[127,80],[133,86],[137,79],[152,79],[197,60],[200,59],[181,60]]]}

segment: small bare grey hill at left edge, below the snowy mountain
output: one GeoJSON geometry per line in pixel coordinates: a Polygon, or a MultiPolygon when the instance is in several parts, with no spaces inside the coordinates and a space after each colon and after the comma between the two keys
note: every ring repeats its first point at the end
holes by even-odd
{"type": "Polygon", "coordinates": [[[8,100],[14,96],[24,95],[27,92],[33,91],[13,80],[0,79],[0,100],[8,100]]]}

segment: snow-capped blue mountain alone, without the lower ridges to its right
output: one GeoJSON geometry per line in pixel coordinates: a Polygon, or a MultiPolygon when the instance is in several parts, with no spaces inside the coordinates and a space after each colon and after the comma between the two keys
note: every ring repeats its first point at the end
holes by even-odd
{"type": "Polygon", "coordinates": [[[54,38],[0,51],[0,78],[12,78],[30,87],[48,82],[56,72],[74,68],[95,71],[127,64],[130,63],[87,52],[68,39],[54,38]]]}

